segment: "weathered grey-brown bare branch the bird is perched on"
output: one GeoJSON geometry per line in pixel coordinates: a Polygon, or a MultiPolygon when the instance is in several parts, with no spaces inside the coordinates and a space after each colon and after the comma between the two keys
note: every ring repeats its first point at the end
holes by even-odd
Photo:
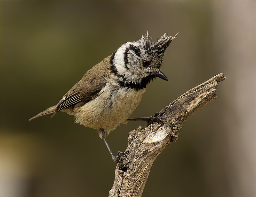
{"type": "Polygon", "coordinates": [[[223,73],[190,89],[166,106],[155,117],[164,124],[152,123],[129,133],[125,156],[116,165],[115,181],[109,196],[141,196],[156,157],[178,138],[181,125],[197,110],[216,99],[216,87],[225,80],[223,73]]]}

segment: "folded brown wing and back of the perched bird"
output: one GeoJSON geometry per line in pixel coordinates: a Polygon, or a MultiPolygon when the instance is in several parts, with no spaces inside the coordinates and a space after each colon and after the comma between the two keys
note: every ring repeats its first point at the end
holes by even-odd
{"type": "Polygon", "coordinates": [[[52,116],[60,110],[84,105],[98,96],[100,90],[105,87],[106,78],[110,73],[109,58],[110,56],[106,57],[84,74],[83,78],[62,97],[52,116]]]}

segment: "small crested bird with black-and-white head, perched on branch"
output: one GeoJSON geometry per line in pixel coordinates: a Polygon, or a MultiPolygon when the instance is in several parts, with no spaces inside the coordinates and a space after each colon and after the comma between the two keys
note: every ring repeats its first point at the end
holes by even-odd
{"type": "MultiPolygon", "coordinates": [[[[150,117],[128,117],[140,103],[151,80],[159,77],[168,81],[160,68],[165,49],[177,35],[168,36],[165,33],[154,42],[147,31],[139,40],[125,42],[88,70],[57,105],[40,112],[29,121],[51,113],[53,117],[59,111],[73,115],[75,123],[98,131],[112,160],[117,163],[119,157],[112,153],[106,138],[121,123],[152,120],[150,117]]],[[[153,118],[153,121],[159,123],[157,118],[153,118]]]]}

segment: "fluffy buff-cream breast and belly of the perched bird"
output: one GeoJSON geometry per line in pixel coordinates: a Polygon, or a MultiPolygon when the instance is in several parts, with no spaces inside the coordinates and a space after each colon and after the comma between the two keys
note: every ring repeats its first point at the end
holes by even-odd
{"type": "Polygon", "coordinates": [[[108,135],[132,114],[140,103],[146,88],[136,91],[127,87],[106,85],[99,96],[75,108],[76,123],[93,129],[104,129],[108,135]]]}

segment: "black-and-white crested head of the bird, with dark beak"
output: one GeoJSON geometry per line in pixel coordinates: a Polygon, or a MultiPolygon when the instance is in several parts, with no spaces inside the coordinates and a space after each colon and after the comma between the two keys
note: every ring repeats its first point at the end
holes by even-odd
{"type": "Polygon", "coordinates": [[[153,42],[147,31],[140,40],[124,43],[110,58],[112,72],[124,84],[142,84],[146,87],[154,77],[168,81],[160,67],[165,49],[176,36],[177,34],[173,37],[164,34],[153,42]]]}

